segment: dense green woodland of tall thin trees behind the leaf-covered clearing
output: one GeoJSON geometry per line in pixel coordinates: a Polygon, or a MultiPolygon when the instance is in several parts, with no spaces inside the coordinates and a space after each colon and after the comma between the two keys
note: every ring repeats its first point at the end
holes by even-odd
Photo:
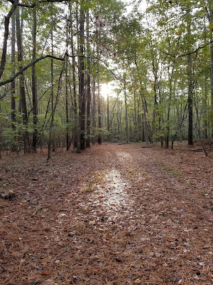
{"type": "Polygon", "coordinates": [[[2,0],[0,11],[0,155],[212,138],[212,0],[147,0],[146,11],[2,0]],[[100,92],[110,82],[115,96],[100,92]]]}

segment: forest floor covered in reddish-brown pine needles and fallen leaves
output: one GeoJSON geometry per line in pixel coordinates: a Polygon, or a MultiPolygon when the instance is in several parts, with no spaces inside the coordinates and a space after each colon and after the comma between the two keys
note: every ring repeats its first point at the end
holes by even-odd
{"type": "Polygon", "coordinates": [[[191,148],[5,156],[0,284],[212,285],[213,152],[191,148]]]}

